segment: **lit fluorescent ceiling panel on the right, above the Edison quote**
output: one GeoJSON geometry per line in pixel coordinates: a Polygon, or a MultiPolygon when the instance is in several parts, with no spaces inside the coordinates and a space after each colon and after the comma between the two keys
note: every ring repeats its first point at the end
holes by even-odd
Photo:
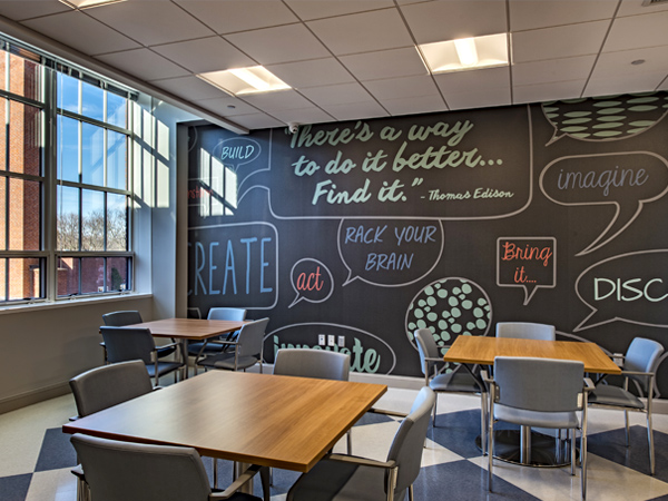
{"type": "Polygon", "coordinates": [[[508,33],[424,43],[419,52],[432,73],[507,66],[508,33]]]}

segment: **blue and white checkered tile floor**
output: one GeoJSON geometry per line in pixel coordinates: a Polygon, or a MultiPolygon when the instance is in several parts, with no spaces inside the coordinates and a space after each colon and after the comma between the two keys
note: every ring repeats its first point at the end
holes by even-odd
{"type": "MultiPolygon", "coordinates": [[[[415,394],[391,389],[379,406],[405,412],[415,394]]],[[[429,430],[414,487],[416,501],[580,499],[579,471],[573,478],[568,468],[523,468],[500,461],[494,463],[495,492],[488,493],[487,458],[474,445],[480,431],[479,406],[474,396],[439,397],[438,428],[429,430]]],[[[68,436],[60,432],[60,425],[75,414],[73,399],[66,395],[0,415],[1,501],[76,500],[76,482],[69,471],[75,454],[68,436]]],[[[655,415],[654,478],[648,474],[642,423],[641,415],[632,415],[631,448],[626,449],[622,414],[590,411],[589,500],[668,500],[668,415],[655,415]]],[[[353,430],[353,452],[384,460],[396,428],[394,419],[365,415],[353,430]]],[[[205,460],[205,464],[210,474],[210,461],[205,460]]],[[[232,478],[228,464],[220,478],[232,478]]],[[[283,501],[296,478],[294,472],[276,470],[272,500],[283,501]]],[[[261,492],[259,485],[256,492],[261,492]]]]}

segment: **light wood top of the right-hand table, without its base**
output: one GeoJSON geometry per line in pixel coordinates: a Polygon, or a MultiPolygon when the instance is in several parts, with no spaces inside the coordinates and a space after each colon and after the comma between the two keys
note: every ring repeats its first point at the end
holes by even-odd
{"type": "Polygon", "coordinates": [[[537,341],[511,337],[459,336],[443,356],[445,362],[493,365],[495,356],[536,356],[576,360],[584,372],[620,374],[621,369],[595,343],[578,341],[537,341]]]}

